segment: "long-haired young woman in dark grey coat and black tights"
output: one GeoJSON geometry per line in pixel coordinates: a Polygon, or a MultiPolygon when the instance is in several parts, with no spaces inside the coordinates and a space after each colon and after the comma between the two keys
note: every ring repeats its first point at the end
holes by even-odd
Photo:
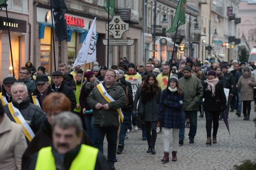
{"type": "Polygon", "coordinates": [[[146,136],[148,141],[147,153],[152,154],[156,154],[156,127],[158,124],[158,107],[161,94],[162,90],[161,87],[158,86],[155,74],[149,73],[147,75],[147,80],[141,87],[138,113],[146,126],[146,136]]]}

